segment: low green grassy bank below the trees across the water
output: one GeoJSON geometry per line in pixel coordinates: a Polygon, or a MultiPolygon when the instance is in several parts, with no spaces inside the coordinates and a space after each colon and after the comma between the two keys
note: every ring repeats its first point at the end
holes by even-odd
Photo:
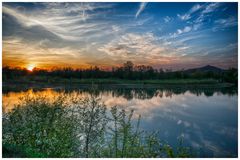
{"type": "MultiPolygon", "coordinates": [[[[36,78],[36,77],[35,77],[36,78]]],[[[95,88],[97,90],[118,90],[118,89],[167,89],[177,92],[186,90],[209,91],[225,90],[236,88],[232,83],[218,82],[214,79],[172,79],[172,80],[121,80],[121,79],[54,79],[46,80],[12,80],[2,83],[4,93],[9,91],[27,91],[28,89],[41,90],[43,88],[52,89],[85,89],[95,88]]],[[[235,90],[235,89],[234,89],[235,90]]]]}

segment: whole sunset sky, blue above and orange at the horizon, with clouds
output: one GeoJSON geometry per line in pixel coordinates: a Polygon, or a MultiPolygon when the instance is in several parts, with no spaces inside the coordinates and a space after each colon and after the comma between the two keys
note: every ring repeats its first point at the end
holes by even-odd
{"type": "Polygon", "coordinates": [[[236,2],[4,2],[3,66],[237,68],[237,13],[236,2]]]}

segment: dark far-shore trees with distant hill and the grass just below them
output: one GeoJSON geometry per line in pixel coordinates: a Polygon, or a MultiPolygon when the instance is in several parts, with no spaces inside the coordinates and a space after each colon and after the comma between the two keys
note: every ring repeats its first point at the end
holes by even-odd
{"type": "Polygon", "coordinates": [[[43,83],[98,83],[98,84],[237,84],[237,69],[223,70],[213,66],[189,70],[163,70],[151,66],[135,66],[128,61],[121,67],[111,71],[101,70],[98,67],[89,69],[55,68],[44,70],[34,68],[28,71],[24,68],[3,67],[3,82],[43,82],[43,83]]]}

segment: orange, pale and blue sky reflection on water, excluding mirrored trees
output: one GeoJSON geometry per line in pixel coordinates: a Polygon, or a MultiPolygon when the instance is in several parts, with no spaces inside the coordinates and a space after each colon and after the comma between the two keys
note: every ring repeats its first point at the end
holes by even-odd
{"type": "MultiPolygon", "coordinates": [[[[143,128],[161,130],[166,138],[176,138],[183,134],[184,140],[192,147],[202,148],[206,152],[211,151],[215,156],[237,153],[235,152],[235,146],[237,147],[237,95],[214,93],[213,96],[207,97],[205,94],[197,96],[189,91],[183,94],[158,91],[153,97],[139,99],[142,97],[141,92],[138,92],[137,97],[134,96],[134,92],[130,93],[131,99],[127,99],[129,96],[111,91],[101,92],[98,97],[107,107],[117,105],[126,110],[134,109],[136,114],[134,118],[137,118],[139,114],[142,116],[143,128]]],[[[60,94],[65,94],[67,97],[90,96],[89,92],[56,92],[51,89],[9,92],[3,94],[3,111],[11,109],[13,104],[18,102],[19,97],[25,94],[46,95],[50,99],[60,94]]]]}

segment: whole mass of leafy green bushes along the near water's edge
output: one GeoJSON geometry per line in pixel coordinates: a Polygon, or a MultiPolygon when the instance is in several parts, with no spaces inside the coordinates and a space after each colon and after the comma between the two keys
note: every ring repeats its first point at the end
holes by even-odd
{"type": "MultiPolygon", "coordinates": [[[[134,111],[99,99],[26,96],[3,114],[3,157],[190,157],[140,128],[134,111]]],[[[176,138],[177,140],[177,138],[176,138]]]]}

